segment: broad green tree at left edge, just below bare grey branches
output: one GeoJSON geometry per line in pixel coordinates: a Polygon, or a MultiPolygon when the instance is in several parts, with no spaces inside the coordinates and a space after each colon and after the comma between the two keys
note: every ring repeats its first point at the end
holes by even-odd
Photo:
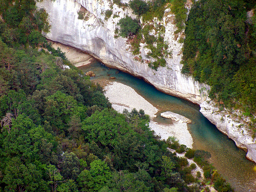
{"type": "Polygon", "coordinates": [[[41,126],[36,127],[25,115],[19,115],[14,119],[11,131],[8,133],[5,130],[1,136],[2,150],[0,152],[6,161],[9,158],[19,157],[26,163],[33,163],[35,160],[47,163],[56,158],[53,152],[56,150],[53,136],[41,126]]]}

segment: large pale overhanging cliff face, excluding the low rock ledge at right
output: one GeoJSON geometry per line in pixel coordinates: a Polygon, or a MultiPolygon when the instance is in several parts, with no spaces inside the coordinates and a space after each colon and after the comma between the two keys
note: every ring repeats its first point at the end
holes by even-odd
{"type": "MultiPolygon", "coordinates": [[[[135,55],[129,51],[130,45],[126,43],[126,38],[114,38],[121,18],[125,15],[135,18],[130,8],[119,8],[108,0],[44,0],[37,3],[37,7],[45,8],[49,14],[51,29],[50,33],[45,34],[48,39],[85,51],[106,66],[142,77],[167,94],[197,104],[204,101],[204,90],[207,90],[208,86],[181,74],[183,44],[179,42],[181,34],[174,35],[177,28],[171,22],[174,15],[170,9],[166,9],[163,20],[157,22],[161,22],[165,27],[164,40],[169,51],[172,51],[172,58],[166,58],[166,67],[159,67],[155,71],[149,68],[147,63],[136,60],[135,55]],[[87,12],[86,19],[78,19],[81,8],[87,12]],[[104,19],[106,10],[113,11],[107,20],[104,19]],[[118,16],[113,18],[113,15],[118,16]]],[[[146,59],[147,50],[143,46],[140,52],[142,59],[146,59]]]]}

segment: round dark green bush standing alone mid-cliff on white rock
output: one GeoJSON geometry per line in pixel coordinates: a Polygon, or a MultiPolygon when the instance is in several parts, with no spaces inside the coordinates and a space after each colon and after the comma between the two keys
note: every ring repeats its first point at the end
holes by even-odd
{"type": "Polygon", "coordinates": [[[137,20],[132,19],[127,15],[125,18],[120,19],[118,25],[120,25],[120,35],[122,37],[135,35],[140,29],[140,25],[138,24],[137,20]]]}

